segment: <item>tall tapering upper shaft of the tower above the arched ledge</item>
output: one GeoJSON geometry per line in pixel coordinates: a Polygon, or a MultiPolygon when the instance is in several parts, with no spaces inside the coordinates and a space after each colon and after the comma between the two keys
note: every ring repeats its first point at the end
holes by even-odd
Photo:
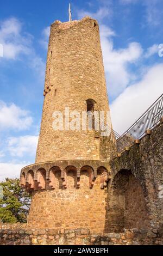
{"type": "Polygon", "coordinates": [[[56,21],[52,24],[44,94],[36,163],[103,159],[99,153],[100,142],[95,138],[95,131],[54,131],[52,127],[54,111],[64,113],[65,107],[69,107],[70,112],[76,110],[82,114],[82,111],[87,111],[87,99],[96,102],[96,111],[109,111],[96,20],[86,17],[80,21],[56,21]]]}

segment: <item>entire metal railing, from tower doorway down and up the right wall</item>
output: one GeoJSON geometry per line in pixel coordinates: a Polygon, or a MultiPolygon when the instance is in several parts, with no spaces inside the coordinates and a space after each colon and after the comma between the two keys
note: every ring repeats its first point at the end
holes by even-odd
{"type": "MultiPolygon", "coordinates": [[[[135,139],[140,139],[145,135],[147,130],[151,130],[158,125],[162,117],[163,94],[123,135],[120,136],[112,127],[100,124],[97,119],[93,119],[93,130],[97,132],[97,136],[114,142],[117,153],[121,153],[126,147],[130,147],[135,139]]],[[[114,155],[116,155],[116,152],[112,156],[114,155]]]]}

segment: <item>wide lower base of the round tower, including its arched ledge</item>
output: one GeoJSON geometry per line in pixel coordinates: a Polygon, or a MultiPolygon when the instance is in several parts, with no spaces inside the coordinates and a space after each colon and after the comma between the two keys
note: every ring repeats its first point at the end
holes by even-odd
{"type": "Polygon", "coordinates": [[[109,165],[102,161],[55,161],[21,171],[21,186],[32,192],[28,227],[89,228],[103,233],[109,165]]]}

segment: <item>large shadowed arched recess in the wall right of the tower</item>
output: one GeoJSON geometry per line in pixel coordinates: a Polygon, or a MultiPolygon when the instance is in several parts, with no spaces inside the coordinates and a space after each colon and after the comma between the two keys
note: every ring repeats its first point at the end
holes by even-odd
{"type": "Polygon", "coordinates": [[[147,228],[149,216],[145,196],[139,180],[131,170],[122,169],[109,186],[107,227],[109,232],[123,228],[147,228]]]}

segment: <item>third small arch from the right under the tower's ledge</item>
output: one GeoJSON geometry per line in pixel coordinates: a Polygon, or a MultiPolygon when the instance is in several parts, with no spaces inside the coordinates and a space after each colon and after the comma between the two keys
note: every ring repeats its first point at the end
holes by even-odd
{"type": "Polygon", "coordinates": [[[77,188],[77,168],[67,166],[65,168],[65,180],[63,182],[65,188],[77,188]]]}

